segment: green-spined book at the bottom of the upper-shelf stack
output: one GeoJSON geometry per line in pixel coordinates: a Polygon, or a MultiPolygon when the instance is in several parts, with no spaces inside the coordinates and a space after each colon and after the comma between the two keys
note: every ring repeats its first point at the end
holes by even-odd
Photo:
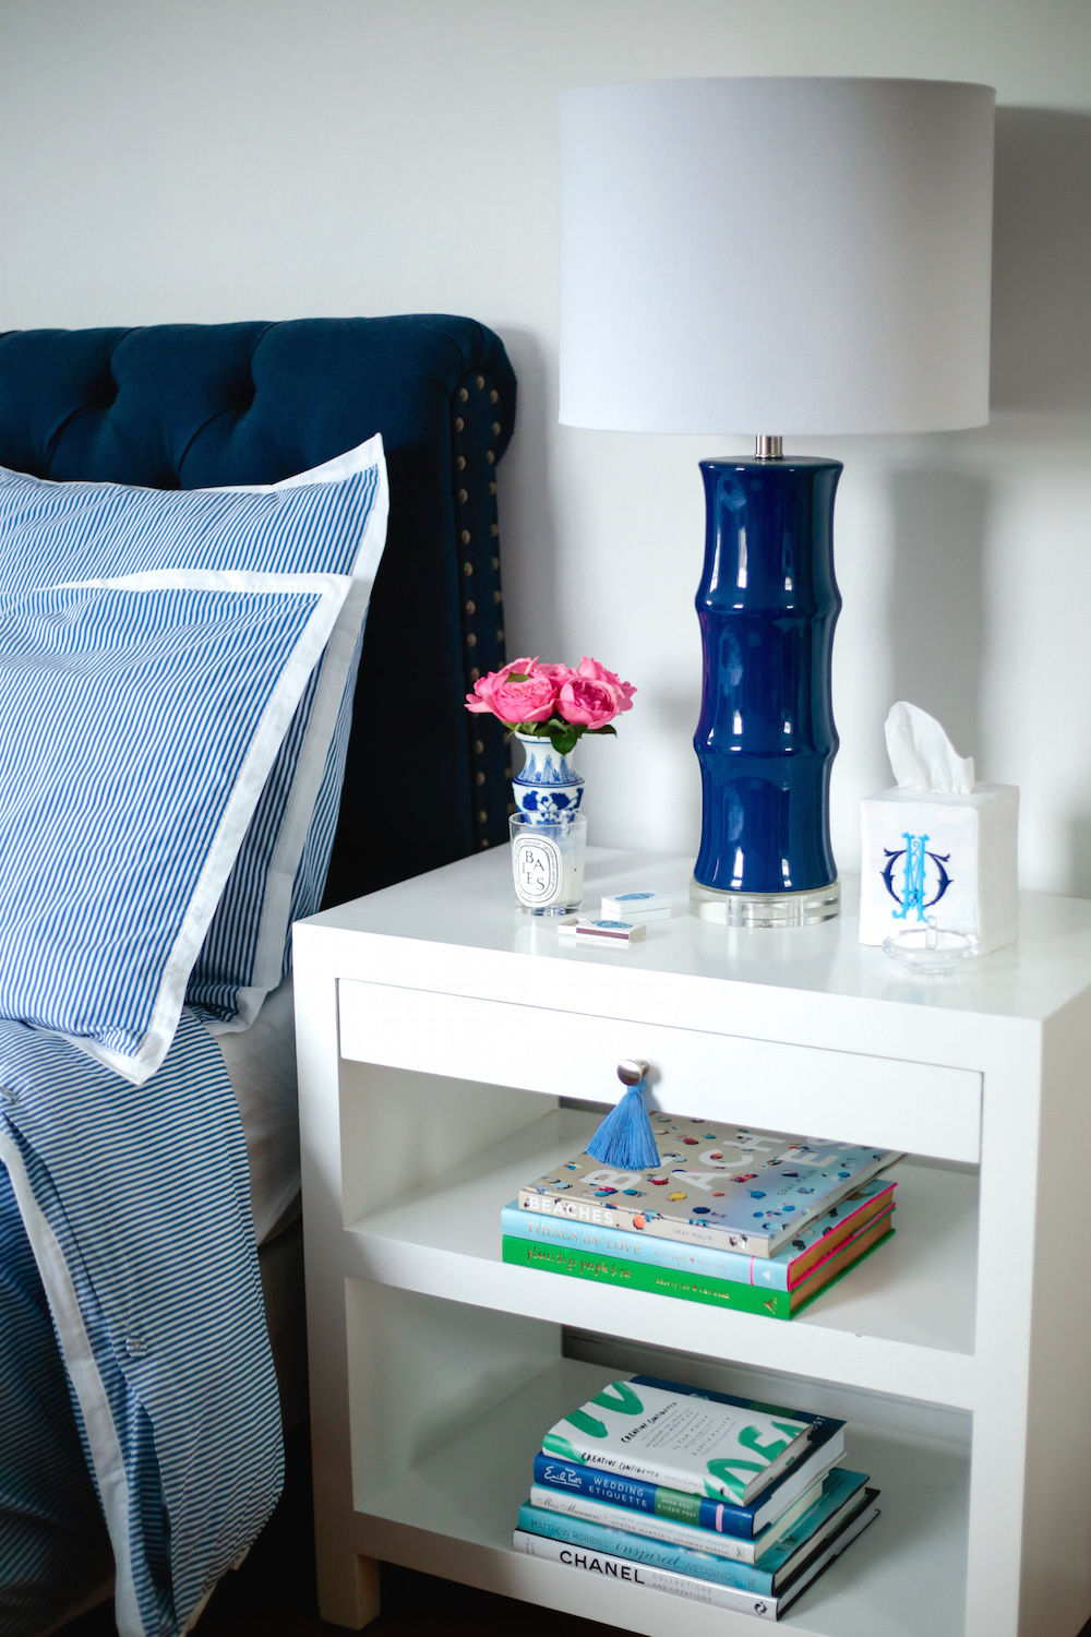
{"type": "MultiPolygon", "coordinates": [[[[523,1211],[512,1211],[510,1215],[519,1215],[523,1220],[528,1216],[523,1211]]],[[[509,1211],[504,1211],[504,1216],[507,1218],[509,1211]]],[[[561,1223],[554,1218],[532,1218],[530,1226],[569,1228],[574,1234],[581,1233],[577,1223],[561,1223]]],[[[654,1252],[649,1257],[644,1256],[635,1260],[628,1254],[571,1249],[563,1242],[553,1242],[546,1236],[535,1236],[525,1231],[519,1236],[505,1233],[501,1254],[505,1262],[512,1262],[517,1267],[532,1267],[538,1272],[564,1274],[569,1278],[589,1278],[599,1285],[617,1285],[626,1290],[648,1290],[653,1295],[677,1297],[684,1301],[705,1301],[710,1306],[731,1308],[736,1313],[759,1313],[765,1318],[790,1319],[823,1290],[836,1283],[842,1274],[847,1274],[849,1269],[864,1260],[891,1233],[893,1210],[887,1210],[882,1216],[865,1221],[857,1234],[823,1257],[795,1290],[769,1290],[761,1285],[736,1283],[712,1274],[685,1272],[684,1267],[661,1265],[654,1252]]],[[[608,1239],[620,1247],[625,1241],[631,1241],[633,1236],[604,1234],[599,1231],[599,1238],[608,1239]]],[[[671,1244],[667,1239],[648,1242],[671,1244]]],[[[638,1244],[643,1247],[643,1242],[638,1244]]],[[[685,1246],[672,1246],[672,1249],[685,1251],[685,1246]]],[[[698,1254],[702,1260],[707,1260],[716,1252],[705,1251],[698,1254]]],[[[769,1264],[756,1260],[756,1265],[765,1267],[769,1264]]]]}

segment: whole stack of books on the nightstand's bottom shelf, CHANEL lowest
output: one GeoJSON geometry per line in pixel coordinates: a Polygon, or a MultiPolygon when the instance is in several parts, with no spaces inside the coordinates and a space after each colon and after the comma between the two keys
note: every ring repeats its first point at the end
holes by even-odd
{"type": "Polygon", "coordinates": [[[635,1375],[558,1421],[517,1552],[779,1619],[878,1516],[844,1423],[635,1375]]]}

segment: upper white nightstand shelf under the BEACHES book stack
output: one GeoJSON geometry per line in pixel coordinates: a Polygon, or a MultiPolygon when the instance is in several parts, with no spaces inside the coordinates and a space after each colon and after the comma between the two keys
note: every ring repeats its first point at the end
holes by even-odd
{"type": "Polygon", "coordinates": [[[684,1352],[775,1362],[877,1391],[898,1380],[911,1398],[972,1408],[973,1174],[900,1164],[891,1172],[900,1205],[893,1239],[785,1324],[501,1260],[501,1208],[523,1182],[581,1152],[597,1123],[595,1115],[556,1110],[460,1167],[443,1187],[353,1221],[358,1256],[348,1267],[378,1283],[648,1342],[661,1337],[669,1301],[672,1344],[684,1352]]]}

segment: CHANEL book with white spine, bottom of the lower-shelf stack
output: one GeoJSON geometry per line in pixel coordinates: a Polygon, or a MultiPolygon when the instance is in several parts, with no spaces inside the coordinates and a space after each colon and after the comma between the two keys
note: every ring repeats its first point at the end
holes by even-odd
{"type": "Polygon", "coordinates": [[[712,1608],[733,1609],[738,1614],[754,1614],[764,1621],[777,1621],[829,1568],[844,1549],[878,1517],[877,1501],[878,1490],[865,1490],[864,1499],[855,1511],[849,1513],[841,1527],[805,1557],[780,1594],[772,1596],[757,1596],[739,1586],[723,1586],[715,1580],[702,1580],[698,1575],[680,1575],[676,1570],[658,1568],[651,1563],[635,1563],[623,1557],[615,1557],[612,1552],[589,1552],[566,1540],[530,1534],[527,1529],[514,1532],[512,1545],[517,1552],[525,1552],[528,1557],[548,1558],[554,1563],[563,1563],[566,1568],[597,1575],[602,1580],[618,1580],[649,1591],[666,1591],[676,1598],[684,1598],[687,1603],[705,1603],[712,1608]]]}

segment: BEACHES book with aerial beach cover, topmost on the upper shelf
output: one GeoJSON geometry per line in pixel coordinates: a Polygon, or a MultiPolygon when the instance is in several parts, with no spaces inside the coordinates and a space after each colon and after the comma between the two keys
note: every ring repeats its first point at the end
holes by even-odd
{"type": "Polygon", "coordinates": [[[653,1113],[659,1164],[617,1170],[577,1154],[519,1190],[519,1208],[622,1233],[770,1257],[901,1154],[653,1113]]]}

